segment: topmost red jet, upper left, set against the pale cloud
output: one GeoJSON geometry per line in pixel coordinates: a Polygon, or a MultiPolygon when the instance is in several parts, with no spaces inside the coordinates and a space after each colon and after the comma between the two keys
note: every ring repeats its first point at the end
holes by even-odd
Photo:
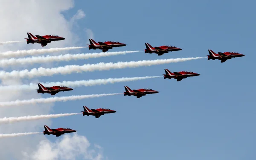
{"type": "Polygon", "coordinates": [[[29,43],[38,43],[41,44],[42,47],[46,46],[48,43],[51,43],[52,41],[61,41],[64,40],[65,38],[60,37],[58,35],[32,35],[31,33],[27,33],[29,38],[25,38],[27,40],[27,44],[29,43]]]}

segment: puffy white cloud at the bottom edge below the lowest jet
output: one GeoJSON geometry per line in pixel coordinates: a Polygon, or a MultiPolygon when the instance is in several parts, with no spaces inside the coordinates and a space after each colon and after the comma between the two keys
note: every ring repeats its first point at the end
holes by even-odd
{"type": "Polygon", "coordinates": [[[24,160],[76,160],[78,157],[84,160],[102,160],[101,152],[102,149],[99,145],[94,145],[94,149],[91,149],[86,137],[77,134],[65,134],[62,139],[56,140],[55,143],[42,140],[36,151],[24,152],[23,155],[24,160]]]}

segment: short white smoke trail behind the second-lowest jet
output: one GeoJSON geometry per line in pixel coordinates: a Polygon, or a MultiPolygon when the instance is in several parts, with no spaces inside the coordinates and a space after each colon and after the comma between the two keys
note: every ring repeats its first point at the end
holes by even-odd
{"type": "Polygon", "coordinates": [[[47,115],[36,115],[36,116],[19,116],[19,117],[4,117],[0,118],[0,123],[12,123],[12,122],[20,122],[20,121],[30,121],[30,120],[38,120],[38,119],[49,119],[49,118],[58,118],[62,116],[72,116],[81,113],[61,113],[61,114],[47,114],[47,115]]]}

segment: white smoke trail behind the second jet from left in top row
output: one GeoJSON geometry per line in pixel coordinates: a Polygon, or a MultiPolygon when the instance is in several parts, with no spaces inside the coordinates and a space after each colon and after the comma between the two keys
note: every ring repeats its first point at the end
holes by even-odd
{"type": "Polygon", "coordinates": [[[81,49],[81,48],[87,48],[87,47],[64,47],[64,48],[49,48],[49,49],[44,48],[44,49],[7,51],[7,52],[0,53],[0,58],[13,58],[13,57],[19,57],[19,56],[26,56],[26,55],[38,55],[38,54],[60,52],[65,50],[81,49]]]}

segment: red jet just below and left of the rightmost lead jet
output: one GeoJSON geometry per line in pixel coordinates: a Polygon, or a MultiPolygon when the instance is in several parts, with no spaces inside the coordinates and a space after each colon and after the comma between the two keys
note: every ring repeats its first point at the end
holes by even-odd
{"type": "Polygon", "coordinates": [[[198,73],[193,73],[189,71],[181,71],[181,72],[170,72],[168,69],[164,69],[166,74],[164,74],[164,79],[177,79],[177,81],[181,81],[182,79],[186,79],[187,77],[199,76],[198,73]]]}

